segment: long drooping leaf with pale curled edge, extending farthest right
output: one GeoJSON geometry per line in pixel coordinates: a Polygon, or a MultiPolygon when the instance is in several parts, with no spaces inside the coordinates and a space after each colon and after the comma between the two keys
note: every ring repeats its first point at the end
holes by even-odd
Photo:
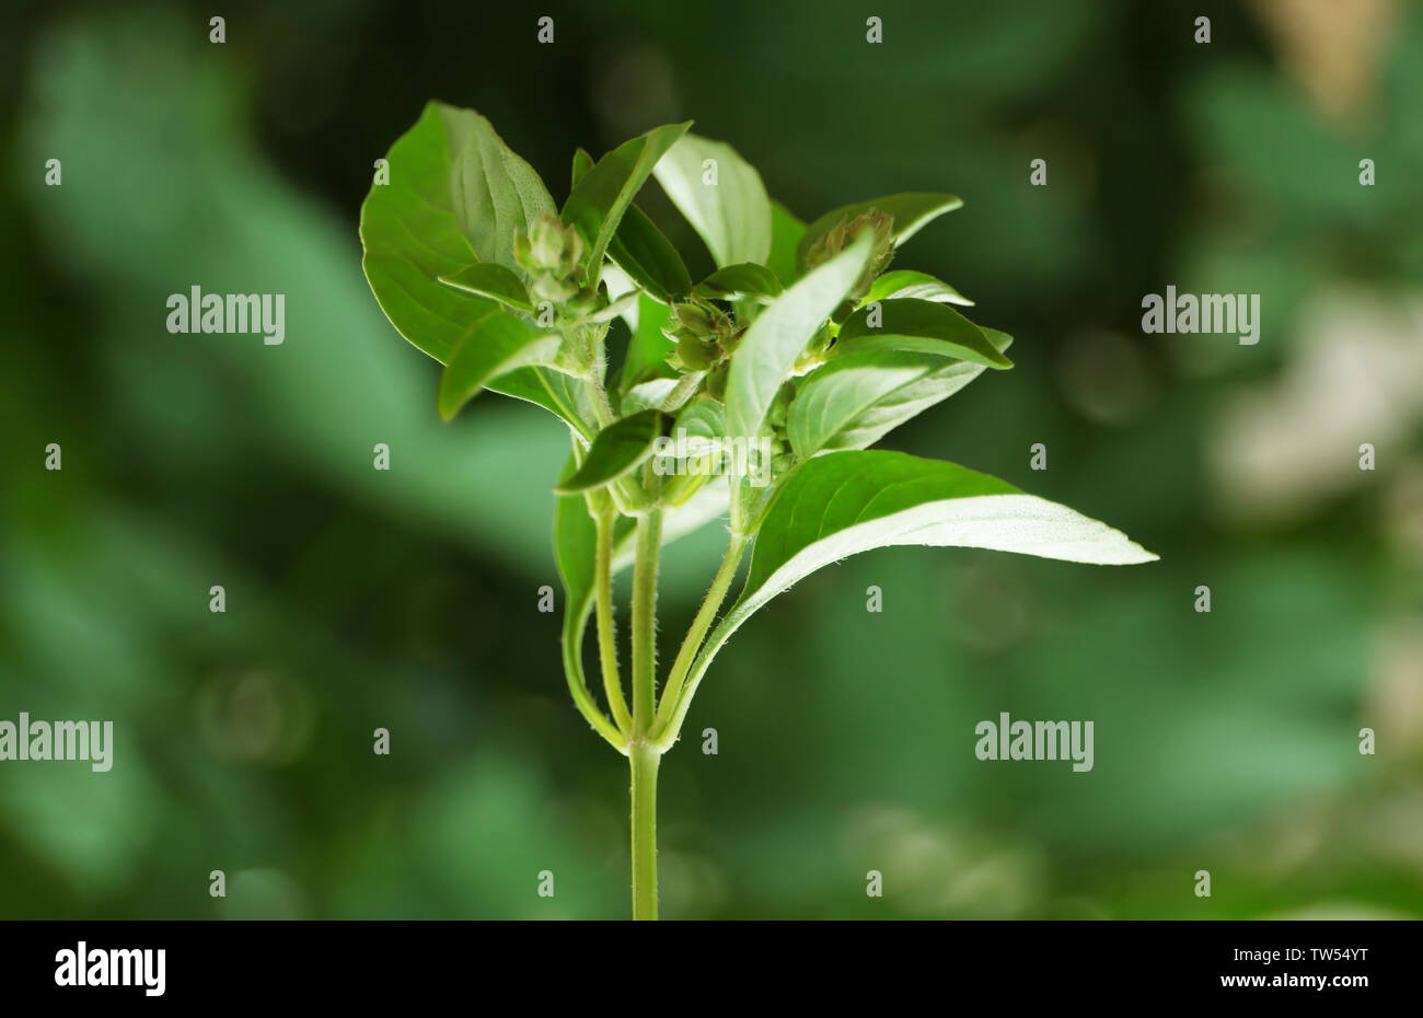
{"type": "Polygon", "coordinates": [[[1096,565],[1157,558],[1104,523],[953,463],[885,450],[828,453],[797,470],[771,503],[741,597],[697,655],[690,686],[777,594],[861,551],[914,544],[1096,565]]]}

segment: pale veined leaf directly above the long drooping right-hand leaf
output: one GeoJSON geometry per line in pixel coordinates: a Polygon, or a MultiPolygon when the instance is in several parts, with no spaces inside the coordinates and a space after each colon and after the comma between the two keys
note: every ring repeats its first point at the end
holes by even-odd
{"type": "MultiPolygon", "coordinates": [[[[983,329],[998,350],[1007,333],[983,329]]],[[[798,457],[822,450],[864,448],[946,400],[985,370],[983,364],[918,350],[837,352],[795,387],[785,431],[798,457]]]]}

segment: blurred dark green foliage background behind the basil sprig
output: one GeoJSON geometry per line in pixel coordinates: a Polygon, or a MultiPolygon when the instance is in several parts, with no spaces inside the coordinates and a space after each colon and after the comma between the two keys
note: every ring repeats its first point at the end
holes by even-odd
{"type": "MultiPolygon", "coordinates": [[[[0,915],[628,913],[626,762],[535,609],[566,434],[492,397],[443,426],[360,272],[371,164],[431,97],[558,199],[575,145],[682,118],[803,218],[962,195],[896,265],[1017,369],[885,444],[1161,554],[901,548],[773,602],[663,762],[665,915],[1423,915],[1420,6],[211,7],[3,16],[0,718],[117,746],[0,763],[0,915]],[[1168,283],[1259,293],[1259,345],[1143,336],[1168,283]],[[285,293],[286,342],[169,335],[192,285],[285,293]],[[1094,720],[1096,767],[978,762],[1000,710],[1094,720]]],[[[717,531],[669,552],[666,642],[717,531]]]]}

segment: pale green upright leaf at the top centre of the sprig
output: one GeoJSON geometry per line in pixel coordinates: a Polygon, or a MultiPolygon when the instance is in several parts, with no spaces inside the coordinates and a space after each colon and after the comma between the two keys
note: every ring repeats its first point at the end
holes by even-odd
{"type": "Polygon", "coordinates": [[[771,253],[771,199],[761,175],[734,148],[687,134],[653,172],[719,266],[766,262],[771,253]]]}

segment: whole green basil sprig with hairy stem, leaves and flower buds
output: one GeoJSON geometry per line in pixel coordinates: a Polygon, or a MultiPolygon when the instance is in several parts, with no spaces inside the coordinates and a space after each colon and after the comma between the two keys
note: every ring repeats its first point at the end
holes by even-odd
{"type": "Polygon", "coordinates": [[[630,763],[633,918],[657,915],[662,756],[726,641],[795,581],[899,544],[1155,558],[998,478],[869,448],[985,370],[1012,366],[1010,337],[958,310],[972,302],[896,266],[899,246],[958,198],[896,194],[807,225],[730,145],[689,127],[657,127],[596,161],[578,149],[558,206],[490,121],[431,103],[377,164],[360,216],[376,300],[444,366],[441,417],[488,390],[568,427],[562,471],[548,464],[562,662],[578,710],[630,763]],[[717,266],[706,279],[692,279],[635,204],[649,177],[706,242],[717,266]],[[619,319],[628,339],[615,343],[619,319]],[[662,548],[719,518],[726,557],[659,673],[662,548]],[[612,577],[626,565],[625,662],[612,577]],[[589,616],[601,698],[583,665],[589,616]]]}

